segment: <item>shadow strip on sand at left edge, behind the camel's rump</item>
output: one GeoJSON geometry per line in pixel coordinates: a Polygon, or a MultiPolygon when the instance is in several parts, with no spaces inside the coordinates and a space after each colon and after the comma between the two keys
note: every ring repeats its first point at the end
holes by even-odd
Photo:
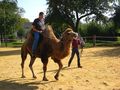
{"type": "Polygon", "coordinates": [[[19,55],[20,50],[0,51],[0,56],[19,55]]]}

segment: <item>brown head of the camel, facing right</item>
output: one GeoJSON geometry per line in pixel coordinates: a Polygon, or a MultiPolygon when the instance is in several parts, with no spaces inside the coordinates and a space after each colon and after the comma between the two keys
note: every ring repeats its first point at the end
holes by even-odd
{"type": "Polygon", "coordinates": [[[77,36],[78,36],[78,34],[76,32],[74,32],[71,28],[67,28],[63,32],[61,39],[66,40],[66,41],[72,41],[73,38],[75,38],[77,36]]]}

